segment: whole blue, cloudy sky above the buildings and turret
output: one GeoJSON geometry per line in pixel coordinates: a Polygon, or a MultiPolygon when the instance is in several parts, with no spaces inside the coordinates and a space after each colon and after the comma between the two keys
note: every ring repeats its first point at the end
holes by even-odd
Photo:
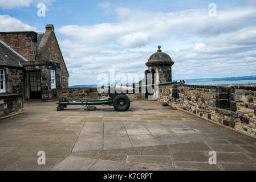
{"type": "Polygon", "coordinates": [[[97,84],[111,68],[144,73],[159,45],[174,61],[173,80],[256,75],[255,0],[0,0],[0,31],[44,32],[46,24],[69,85],[97,84]]]}

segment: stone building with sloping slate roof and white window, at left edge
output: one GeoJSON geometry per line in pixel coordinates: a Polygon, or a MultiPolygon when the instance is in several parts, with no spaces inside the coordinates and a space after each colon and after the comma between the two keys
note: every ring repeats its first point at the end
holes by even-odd
{"type": "Polygon", "coordinates": [[[21,62],[25,60],[0,40],[0,118],[23,112],[21,62]]]}

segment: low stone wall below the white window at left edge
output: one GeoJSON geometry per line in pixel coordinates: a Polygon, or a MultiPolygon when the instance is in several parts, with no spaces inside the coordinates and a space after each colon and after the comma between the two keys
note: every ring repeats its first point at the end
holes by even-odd
{"type": "Polygon", "coordinates": [[[22,94],[0,95],[0,119],[23,113],[22,94]]]}

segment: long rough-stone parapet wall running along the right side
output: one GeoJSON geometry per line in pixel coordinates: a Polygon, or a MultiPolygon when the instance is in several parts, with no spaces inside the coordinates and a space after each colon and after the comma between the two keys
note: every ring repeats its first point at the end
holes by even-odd
{"type": "Polygon", "coordinates": [[[160,86],[158,101],[255,137],[256,87],[160,86]],[[250,101],[250,102],[249,102],[250,101]]]}

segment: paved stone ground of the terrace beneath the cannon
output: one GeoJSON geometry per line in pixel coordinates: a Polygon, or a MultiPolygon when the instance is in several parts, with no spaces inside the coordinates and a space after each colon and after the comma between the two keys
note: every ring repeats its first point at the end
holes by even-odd
{"type": "Polygon", "coordinates": [[[1,170],[256,170],[256,141],[156,101],[128,111],[26,102],[0,121],[1,170]],[[209,165],[209,151],[217,165],[209,165]],[[38,151],[46,165],[38,165],[38,151]]]}

